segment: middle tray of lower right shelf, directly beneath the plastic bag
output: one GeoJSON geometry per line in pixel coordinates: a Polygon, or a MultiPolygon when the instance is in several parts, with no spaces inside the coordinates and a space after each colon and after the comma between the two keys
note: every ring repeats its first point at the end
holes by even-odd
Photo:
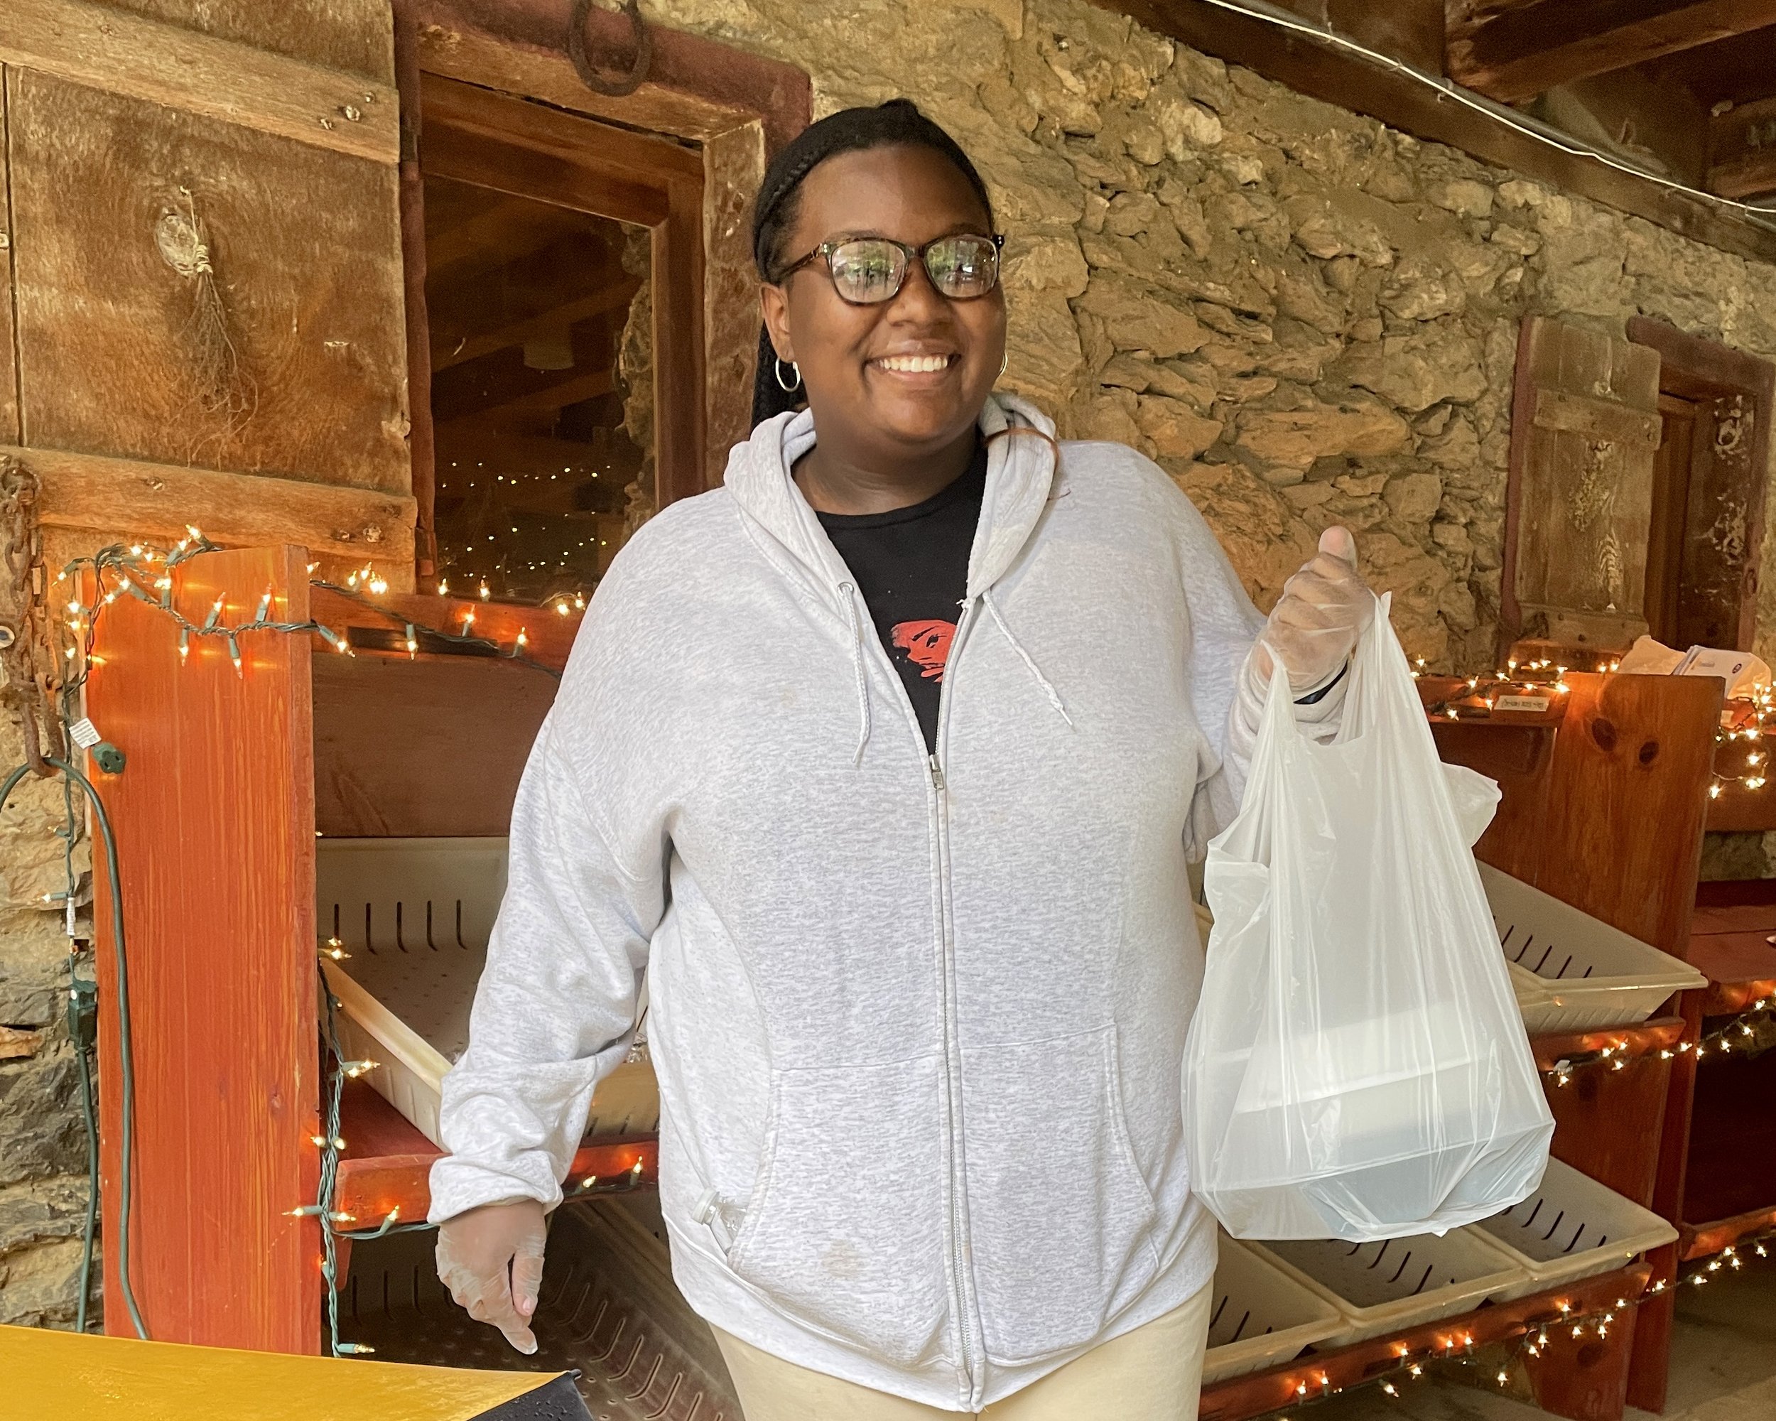
{"type": "Polygon", "coordinates": [[[1467,1313],[1527,1277],[1524,1265],[1471,1227],[1382,1243],[1291,1238],[1247,1247],[1339,1311],[1330,1346],[1467,1313]]]}

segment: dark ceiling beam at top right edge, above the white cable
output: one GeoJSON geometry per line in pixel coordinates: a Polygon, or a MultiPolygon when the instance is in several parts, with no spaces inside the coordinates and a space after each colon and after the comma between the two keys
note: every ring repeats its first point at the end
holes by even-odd
{"type": "Polygon", "coordinates": [[[1522,99],[1776,21],[1776,0],[1463,0],[1451,14],[1449,78],[1522,99]]]}

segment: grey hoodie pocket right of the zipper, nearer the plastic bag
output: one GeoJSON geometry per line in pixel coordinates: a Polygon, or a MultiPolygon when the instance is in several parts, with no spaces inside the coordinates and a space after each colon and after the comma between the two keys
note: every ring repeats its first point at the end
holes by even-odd
{"type": "Polygon", "coordinates": [[[1115,1027],[964,1052],[963,1121],[987,1357],[1090,1343],[1160,1266],[1115,1027]]]}

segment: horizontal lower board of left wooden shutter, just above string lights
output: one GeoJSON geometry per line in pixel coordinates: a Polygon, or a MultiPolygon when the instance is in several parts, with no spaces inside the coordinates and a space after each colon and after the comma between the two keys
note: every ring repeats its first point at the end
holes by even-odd
{"type": "Polygon", "coordinates": [[[43,480],[46,528],[178,540],[199,522],[218,544],[300,542],[334,558],[373,560],[391,581],[410,576],[414,501],[405,494],[66,449],[7,446],[0,455],[16,455],[43,480]]]}

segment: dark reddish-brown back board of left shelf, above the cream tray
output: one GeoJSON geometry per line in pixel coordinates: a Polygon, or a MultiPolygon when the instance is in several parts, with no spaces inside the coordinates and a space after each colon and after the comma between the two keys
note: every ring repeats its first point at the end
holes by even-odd
{"type": "Polygon", "coordinates": [[[453,655],[320,655],[313,680],[314,828],[346,838],[504,835],[559,686],[453,655]]]}

